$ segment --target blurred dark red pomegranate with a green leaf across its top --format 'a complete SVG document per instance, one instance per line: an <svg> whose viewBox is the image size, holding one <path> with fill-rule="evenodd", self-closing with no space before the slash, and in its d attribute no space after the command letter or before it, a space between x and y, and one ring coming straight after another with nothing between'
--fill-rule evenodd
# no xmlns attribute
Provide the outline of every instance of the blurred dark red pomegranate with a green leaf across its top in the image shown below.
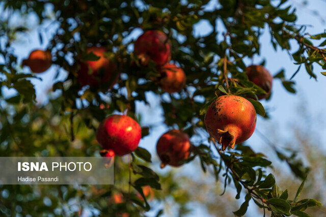
<svg viewBox="0 0 326 217"><path fill-rule="evenodd" d="M111 82L110 89L116 82L119 76L117 65L107 58L104 53L104 47L90 47L87 53L93 52L100 58L98 60L88 60L85 63L80 62L77 81L82 86L90 85L93 87L99 86L100 83Z"/></svg>

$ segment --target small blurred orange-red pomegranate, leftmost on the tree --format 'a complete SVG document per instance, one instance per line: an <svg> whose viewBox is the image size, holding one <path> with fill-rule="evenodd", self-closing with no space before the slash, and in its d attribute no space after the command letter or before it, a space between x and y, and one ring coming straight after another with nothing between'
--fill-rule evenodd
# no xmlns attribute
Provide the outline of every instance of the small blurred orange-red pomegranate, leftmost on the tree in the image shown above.
<svg viewBox="0 0 326 217"><path fill-rule="evenodd" d="M32 72L41 73L52 65L52 56L49 51L33 50L28 59L22 61L23 66L29 66Z"/></svg>

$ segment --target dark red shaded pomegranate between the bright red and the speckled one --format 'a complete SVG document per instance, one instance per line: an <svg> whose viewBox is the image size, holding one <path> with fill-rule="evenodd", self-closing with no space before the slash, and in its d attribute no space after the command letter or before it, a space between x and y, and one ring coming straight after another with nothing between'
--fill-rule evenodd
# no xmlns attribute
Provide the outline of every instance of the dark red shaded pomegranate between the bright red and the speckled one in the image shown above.
<svg viewBox="0 0 326 217"><path fill-rule="evenodd" d="M181 166L191 153L191 144L187 134L179 130L171 130L163 134L157 141L156 151L161 159L161 168L166 165Z"/></svg>

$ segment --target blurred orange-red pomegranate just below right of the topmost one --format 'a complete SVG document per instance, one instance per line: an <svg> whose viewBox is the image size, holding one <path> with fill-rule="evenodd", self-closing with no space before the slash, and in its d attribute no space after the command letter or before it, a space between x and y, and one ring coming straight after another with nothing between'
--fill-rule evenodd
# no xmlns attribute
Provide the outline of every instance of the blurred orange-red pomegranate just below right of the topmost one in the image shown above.
<svg viewBox="0 0 326 217"><path fill-rule="evenodd" d="M175 64L166 64L162 66L160 74L159 86L165 92L180 92L186 83L184 71Z"/></svg>

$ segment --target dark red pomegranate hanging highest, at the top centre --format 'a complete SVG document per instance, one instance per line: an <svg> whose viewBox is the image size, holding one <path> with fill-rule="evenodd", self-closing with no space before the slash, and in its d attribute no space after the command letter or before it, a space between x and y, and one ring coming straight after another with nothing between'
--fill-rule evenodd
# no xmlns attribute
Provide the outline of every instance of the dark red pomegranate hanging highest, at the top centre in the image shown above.
<svg viewBox="0 0 326 217"><path fill-rule="evenodd" d="M171 59L171 41L165 33L149 30L141 35L134 43L134 53L147 66L153 60L157 66L162 66Z"/></svg>

